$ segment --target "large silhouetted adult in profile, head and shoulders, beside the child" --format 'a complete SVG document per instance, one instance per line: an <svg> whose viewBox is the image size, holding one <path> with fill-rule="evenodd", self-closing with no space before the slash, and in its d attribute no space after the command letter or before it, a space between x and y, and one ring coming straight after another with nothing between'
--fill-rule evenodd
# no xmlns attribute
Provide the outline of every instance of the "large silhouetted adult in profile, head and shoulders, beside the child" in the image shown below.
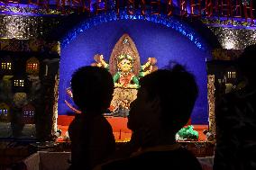
<svg viewBox="0 0 256 170"><path fill-rule="evenodd" d="M135 152L96 169L202 169L197 157L175 139L197 99L194 76L172 64L142 77L140 85L127 123L133 130L131 149Z"/></svg>

